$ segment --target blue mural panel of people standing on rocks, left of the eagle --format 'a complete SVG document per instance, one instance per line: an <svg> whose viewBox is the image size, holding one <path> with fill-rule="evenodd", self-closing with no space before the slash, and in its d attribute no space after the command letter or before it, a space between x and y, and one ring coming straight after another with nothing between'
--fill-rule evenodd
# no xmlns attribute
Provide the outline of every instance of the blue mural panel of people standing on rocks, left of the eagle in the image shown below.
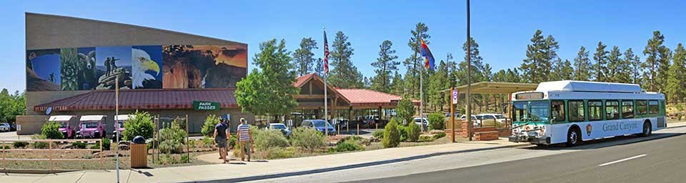
<svg viewBox="0 0 686 183"><path fill-rule="evenodd" d="M95 89L114 89L119 77L119 89L131 86L131 46L97 46L95 48L97 86ZM116 66L119 64L119 66Z"/></svg>

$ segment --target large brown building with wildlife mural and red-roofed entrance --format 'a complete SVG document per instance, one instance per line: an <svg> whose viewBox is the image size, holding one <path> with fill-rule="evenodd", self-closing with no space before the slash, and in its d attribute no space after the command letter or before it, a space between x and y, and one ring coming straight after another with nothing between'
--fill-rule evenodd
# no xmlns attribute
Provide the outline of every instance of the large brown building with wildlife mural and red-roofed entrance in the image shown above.
<svg viewBox="0 0 686 183"><path fill-rule="evenodd" d="M34 134L52 115L107 115L112 132L115 88L119 114L143 110L165 119L188 115L200 132L209 114L244 117L234 91L247 75L247 44L143 26L26 13L26 115L18 134ZM316 74L297 78L297 112L285 119L319 119L324 84ZM330 117L389 116L399 96L329 87ZM210 109L200 106L209 104ZM384 110L385 109L385 110ZM76 124L71 124L72 126Z"/></svg>

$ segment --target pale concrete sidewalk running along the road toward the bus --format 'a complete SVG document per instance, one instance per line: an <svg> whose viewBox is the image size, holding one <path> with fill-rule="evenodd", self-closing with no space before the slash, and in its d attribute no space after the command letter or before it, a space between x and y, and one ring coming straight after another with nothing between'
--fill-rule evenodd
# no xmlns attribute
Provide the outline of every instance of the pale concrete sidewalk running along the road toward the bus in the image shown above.
<svg viewBox="0 0 686 183"><path fill-rule="evenodd" d="M686 126L686 122L669 124L669 127L679 126ZM200 182L218 179L227 182L240 182L329 172L339 169L369 167L412 159L423 159L443 154L456 154L528 145L529 144L525 143L517 144L507 142L507 139L501 138L499 140L484 142L400 147L269 161L239 162L234 160L231 164L120 170L119 178L120 182ZM207 156L216 158L216 154L209 154ZM0 182L116 182L116 172L114 170L88 170L59 174L0 174Z"/></svg>

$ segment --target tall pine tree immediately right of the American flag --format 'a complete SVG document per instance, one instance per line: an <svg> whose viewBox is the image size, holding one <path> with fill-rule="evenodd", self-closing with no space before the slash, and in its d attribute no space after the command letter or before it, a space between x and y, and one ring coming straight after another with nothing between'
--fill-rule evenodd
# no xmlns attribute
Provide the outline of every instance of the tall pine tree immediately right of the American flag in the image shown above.
<svg viewBox="0 0 686 183"><path fill-rule="evenodd" d="M354 49L348 41L348 36L345 36L342 31L338 31L331 47L330 59L333 69L331 76L329 76L329 84L341 88L362 87L362 74L357 70L357 66L354 66L350 61Z"/></svg>

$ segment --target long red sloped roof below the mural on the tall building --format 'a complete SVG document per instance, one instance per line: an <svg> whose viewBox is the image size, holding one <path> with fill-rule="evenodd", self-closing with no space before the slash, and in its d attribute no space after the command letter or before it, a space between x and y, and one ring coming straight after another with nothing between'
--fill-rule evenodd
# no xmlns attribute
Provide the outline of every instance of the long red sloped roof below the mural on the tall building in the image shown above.
<svg viewBox="0 0 686 183"><path fill-rule="evenodd" d="M193 109L193 101L219 102L221 108L238 108L235 89L127 89L119 91L119 109ZM114 90L90 91L34 107L44 112L114 110Z"/></svg>

